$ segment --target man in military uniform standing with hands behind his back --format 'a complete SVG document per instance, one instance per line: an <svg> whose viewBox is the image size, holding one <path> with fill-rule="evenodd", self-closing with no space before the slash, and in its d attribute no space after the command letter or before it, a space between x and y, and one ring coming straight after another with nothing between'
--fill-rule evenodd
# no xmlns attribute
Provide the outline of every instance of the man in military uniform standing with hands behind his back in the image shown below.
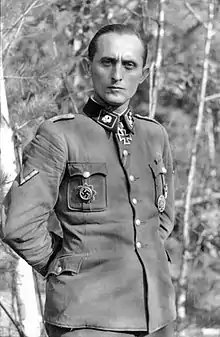
<svg viewBox="0 0 220 337"><path fill-rule="evenodd" d="M93 96L82 114L40 126L7 198L2 237L46 277L50 337L173 336L168 136L129 107L146 58L129 26L97 32L86 62ZM62 239L48 231L52 210Z"/></svg>

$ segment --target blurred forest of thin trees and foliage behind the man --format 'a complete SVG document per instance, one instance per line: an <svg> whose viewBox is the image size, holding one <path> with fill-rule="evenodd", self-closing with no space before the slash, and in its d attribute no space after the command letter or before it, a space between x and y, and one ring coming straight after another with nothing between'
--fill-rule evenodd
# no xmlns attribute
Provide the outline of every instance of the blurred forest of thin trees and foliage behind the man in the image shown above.
<svg viewBox="0 0 220 337"><path fill-rule="evenodd" d="M97 29L129 23L139 30L149 46L150 76L132 105L165 126L174 158L176 218L167 248L177 330L204 336L210 328L210 336L220 336L219 1L3 0L1 9L1 60L17 154L43 120L82 109L92 85L81 60ZM0 202L6 181L1 172ZM1 243L0 303L12 316L15 261ZM44 298L44 281L35 275L35 282ZM6 316L0 310L0 336L17 336Z"/></svg>

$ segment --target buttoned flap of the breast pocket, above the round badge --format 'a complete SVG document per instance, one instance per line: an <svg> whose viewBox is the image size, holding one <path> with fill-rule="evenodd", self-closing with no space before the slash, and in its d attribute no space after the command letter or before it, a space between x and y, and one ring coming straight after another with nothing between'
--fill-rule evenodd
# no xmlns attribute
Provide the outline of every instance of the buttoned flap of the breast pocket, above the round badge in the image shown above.
<svg viewBox="0 0 220 337"><path fill-rule="evenodd" d="M107 167L105 163L71 163L68 164L69 175L80 175L84 178L89 178L93 174L107 175Z"/></svg>

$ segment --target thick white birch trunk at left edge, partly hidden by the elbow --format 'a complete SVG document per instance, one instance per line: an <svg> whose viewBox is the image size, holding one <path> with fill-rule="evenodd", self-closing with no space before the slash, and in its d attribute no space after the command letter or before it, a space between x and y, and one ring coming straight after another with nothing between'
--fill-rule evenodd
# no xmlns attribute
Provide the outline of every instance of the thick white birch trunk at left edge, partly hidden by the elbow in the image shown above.
<svg viewBox="0 0 220 337"><path fill-rule="evenodd" d="M12 181L16 176L16 158L13 143L13 132L10 127L9 111L7 105L3 63L0 56L0 87L1 87L1 171L7 177L3 194L6 195ZM19 201L18 201L19 202ZM41 332L41 317L39 316L32 268L21 258L18 258L16 267L16 288L19 305L22 307L22 321L25 335L27 337L39 337Z"/></svg>

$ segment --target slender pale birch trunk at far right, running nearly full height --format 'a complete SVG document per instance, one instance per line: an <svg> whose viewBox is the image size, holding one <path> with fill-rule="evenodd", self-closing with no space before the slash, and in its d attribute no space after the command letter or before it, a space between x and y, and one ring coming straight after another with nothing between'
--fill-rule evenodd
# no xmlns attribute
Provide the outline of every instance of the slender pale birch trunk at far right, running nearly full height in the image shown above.
<svg viewBox="0 0 220 337"><path fill-rule="evenodd" d="M211 0L209 3L209 20L207 25L207 34L205 42L205 53L204 53L205 55L203 62L203 75L199 99L198 118L195 129L195 137L193 140L191 150L188 185L184 207L185 210L184 210L184 228L183 228L183 258L179 277L179 291L177 293L177 315L180 320L186 318L187 281L193 260L193 252L191 251L191 241L190 241L190 234L192 230L191 228L192 224L190 222L190 211L191 211L192 192L196 175L197 150L202 132L204 107L206 101L205 96L208 81L209 54L213 36L214 7L215 7L215 0ZM184 333L181 336L184 336Z"/></svg>

